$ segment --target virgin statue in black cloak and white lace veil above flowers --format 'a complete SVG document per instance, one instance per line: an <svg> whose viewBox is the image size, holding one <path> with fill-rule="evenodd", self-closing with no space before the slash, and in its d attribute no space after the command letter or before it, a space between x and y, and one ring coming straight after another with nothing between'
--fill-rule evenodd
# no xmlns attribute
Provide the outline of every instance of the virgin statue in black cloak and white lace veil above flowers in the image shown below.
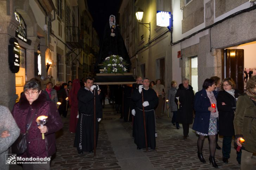
<svg viewBox="0 0 256 170"><path fill-rule="evenodd" d="M130 58L127 53L126 46L122 35L120 34L119 25L116 25L116 18L114 15L109 16L109 22L104 28L103 39L101 41L101 47L99 51L98 58L95 64L95 71L99 73L100 67L98 64L101 64L106 57L109 55L120 55L128 64L128 72L130 70Z"/></svg>

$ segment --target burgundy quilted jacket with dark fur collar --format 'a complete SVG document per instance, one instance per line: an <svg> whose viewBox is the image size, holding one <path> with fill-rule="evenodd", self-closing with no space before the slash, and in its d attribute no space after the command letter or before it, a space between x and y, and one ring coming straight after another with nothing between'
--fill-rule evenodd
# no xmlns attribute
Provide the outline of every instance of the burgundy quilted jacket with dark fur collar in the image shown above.
<svg viewBox="0 0 256 170"><path fill-rule="evenodd" d="M19 102L14 105L12 115L20 128L20 133L25 133L26 124L33 118L27 133L27 150L21 157L43 158L52 156L56 152L55 132L63 127L63 123L55 103L47 101L44 93L41 93L31 105L23 94ZM48 116L45 124L47 127L45 140L42 140L42 134L36 123L37 117L41 115Z"/></svg>

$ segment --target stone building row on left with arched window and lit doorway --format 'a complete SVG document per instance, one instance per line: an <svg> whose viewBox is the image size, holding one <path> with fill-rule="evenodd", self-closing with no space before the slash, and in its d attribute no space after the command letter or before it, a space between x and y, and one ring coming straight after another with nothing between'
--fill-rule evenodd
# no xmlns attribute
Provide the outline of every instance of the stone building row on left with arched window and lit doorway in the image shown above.
<svg viewBox="0 0 256 170"><path fill-rule="evenodd" d="M50 75L42 82L53 84L79 77L86 8L83 0L0 0L1 105L12 110L23 85L33 77ZM19 55L14 56L14 49ZM11 71L12 60L18 61L18 72Z"/></svg>

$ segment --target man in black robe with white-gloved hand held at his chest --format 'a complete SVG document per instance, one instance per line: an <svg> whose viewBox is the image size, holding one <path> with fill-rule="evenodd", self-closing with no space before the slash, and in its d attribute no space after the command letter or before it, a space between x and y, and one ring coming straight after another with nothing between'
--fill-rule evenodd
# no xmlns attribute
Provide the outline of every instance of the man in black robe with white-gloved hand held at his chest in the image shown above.
<svg viewBox="0 0 256 170"><path fill-rule="evenodd" d="M143 103L142 103L143 93ZM143 80L143 85L140 85L138 89L134 90L132 100L135 101L135 137L134 143L137 145L137 149L146 148L145 142L145 130L144 130L144 118L143 107L145 110L145 122L147 132L147 144L151 149L155 149L155 116L154 108L158 104L158 97L155 91L149 88L149 79Z"/></svg>

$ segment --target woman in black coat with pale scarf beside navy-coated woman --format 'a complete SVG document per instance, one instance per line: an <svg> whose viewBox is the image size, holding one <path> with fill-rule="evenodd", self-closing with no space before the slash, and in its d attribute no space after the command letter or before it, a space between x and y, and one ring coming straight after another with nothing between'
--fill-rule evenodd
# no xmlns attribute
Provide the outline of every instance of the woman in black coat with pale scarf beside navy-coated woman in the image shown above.
<svg viewBox="0 0 256 170"><path fill-rule="evenodd" d="M219 111L219 135L223 136L222 160L228 163L231 151L232 136L235 135L233 120L236 110L236 99L241 92L236 88L232 78L226 78L221 83L222 91L217 96L217 108ZM237 157L239 161L239 154Z"/></svg>

